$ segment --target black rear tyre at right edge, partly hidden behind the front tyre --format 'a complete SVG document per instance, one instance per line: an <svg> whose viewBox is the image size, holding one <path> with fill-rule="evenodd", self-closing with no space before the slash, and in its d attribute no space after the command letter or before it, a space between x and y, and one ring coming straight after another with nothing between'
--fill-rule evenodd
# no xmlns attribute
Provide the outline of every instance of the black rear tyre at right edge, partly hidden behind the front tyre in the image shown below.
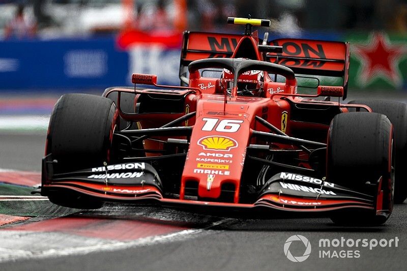
<svg viewBox="0 0 407 271"><path fill-rule="evenodd" d="M364 104L373 112L386 115L394 126L395 168L394 202L403 203L407 198L407 105L392 101L355 100L350 104Z"/></svg>

